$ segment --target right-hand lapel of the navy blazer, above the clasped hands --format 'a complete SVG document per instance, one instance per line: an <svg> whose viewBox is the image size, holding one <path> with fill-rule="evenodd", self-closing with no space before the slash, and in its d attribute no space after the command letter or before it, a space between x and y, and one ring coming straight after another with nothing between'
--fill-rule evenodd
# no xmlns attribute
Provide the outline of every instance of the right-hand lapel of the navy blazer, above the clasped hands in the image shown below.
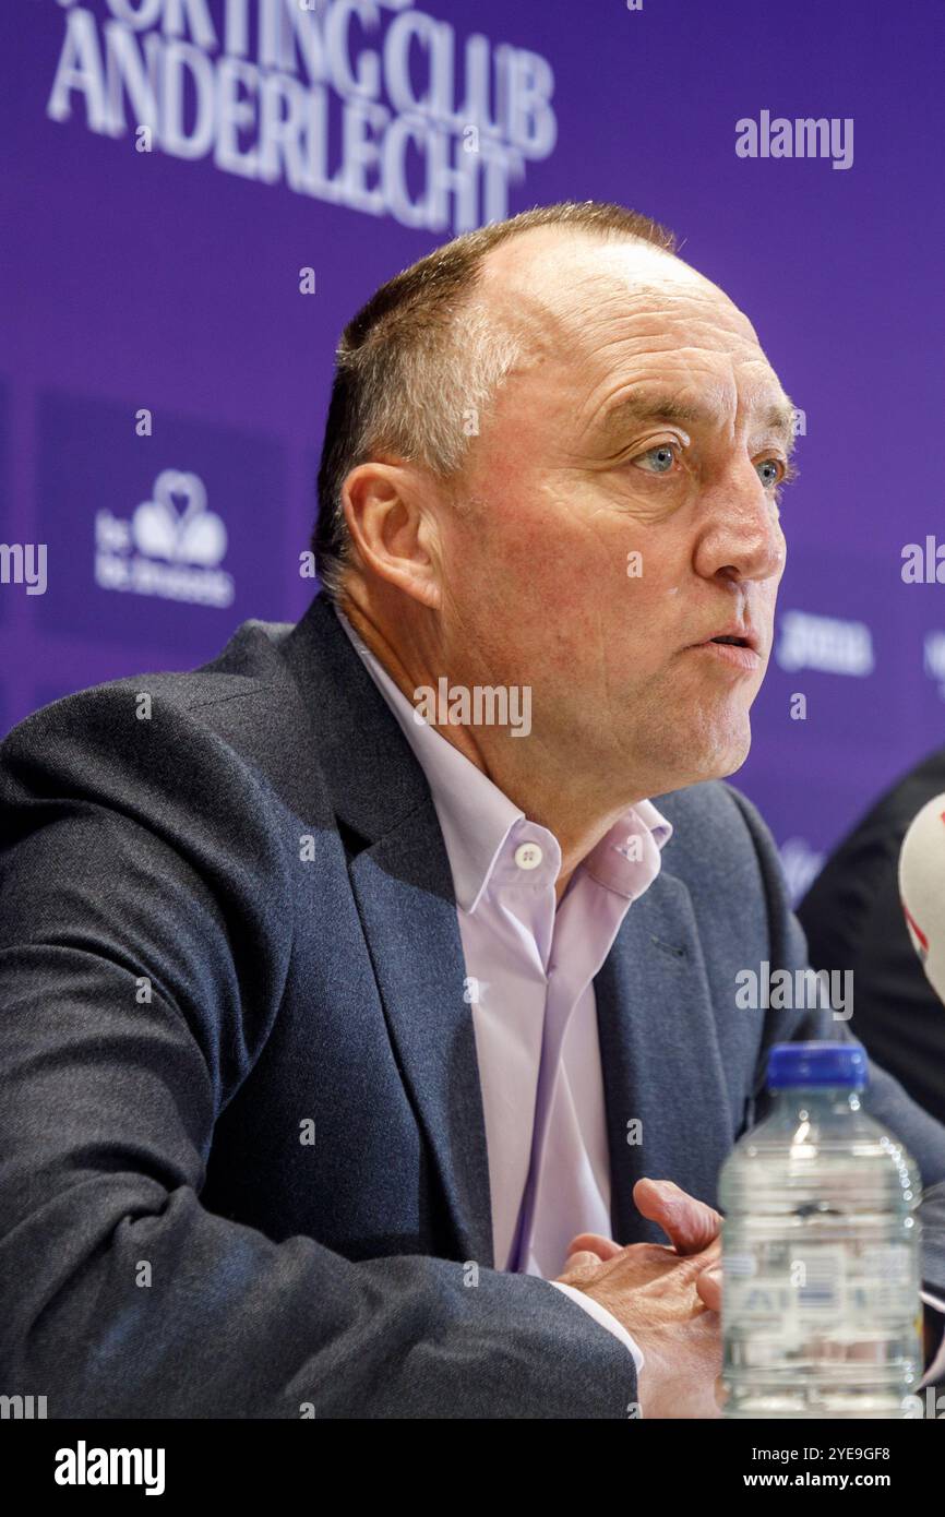
<svg viewBox="0 0 945 1517"><path fill-rule="evenodd" d="M686 886L661 872L595 978L617 1242L666 1242L640 1217L643 1176L714 1204L733 1127L708 978Z"/></svg>

